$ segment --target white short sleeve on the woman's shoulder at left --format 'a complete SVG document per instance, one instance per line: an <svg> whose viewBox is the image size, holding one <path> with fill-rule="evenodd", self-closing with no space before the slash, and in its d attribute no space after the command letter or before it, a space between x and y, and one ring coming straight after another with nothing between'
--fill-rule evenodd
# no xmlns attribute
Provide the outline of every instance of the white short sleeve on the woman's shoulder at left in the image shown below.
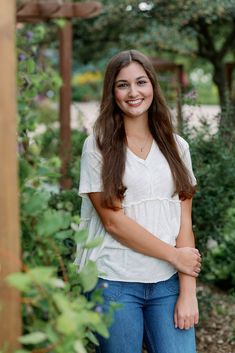
<svg viewBox="0 0 235 353"><path fill-rule="evenodd" d="M80 196L87 197L90 192L103 191L101 168L102 156L96 147L94 137L89 136L84 143L81 157Z"/></svg>

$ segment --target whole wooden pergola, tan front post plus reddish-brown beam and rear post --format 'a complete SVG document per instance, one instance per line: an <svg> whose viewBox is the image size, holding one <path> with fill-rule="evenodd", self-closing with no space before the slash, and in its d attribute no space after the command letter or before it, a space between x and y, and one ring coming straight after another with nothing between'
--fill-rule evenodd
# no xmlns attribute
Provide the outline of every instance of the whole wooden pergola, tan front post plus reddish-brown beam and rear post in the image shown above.
<svg viewBox="0 0 235 353"><path fill-rule="evenodd" d="M61 186L70 186L66 175L71 150L70 131L70 73L72 61L72 18L91 18L101 11L98 2L63 3L52 0L23 1L16 9L14 0L0 0L0 349L8 352L18 347L21 335L20 294L9 287L5 278L21 270L19 191L17 168L16 123L16 50L15 28L18 22L67 19L60 29L60 73L63 86L60 92L60 157L62 160Z"/></svg>

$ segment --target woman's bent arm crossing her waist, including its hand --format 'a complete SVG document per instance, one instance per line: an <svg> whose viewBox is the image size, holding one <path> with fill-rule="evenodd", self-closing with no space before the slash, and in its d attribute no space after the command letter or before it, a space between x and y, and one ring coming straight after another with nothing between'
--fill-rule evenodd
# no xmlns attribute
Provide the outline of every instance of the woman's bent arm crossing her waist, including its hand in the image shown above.
<svg viewBox="0 0 235 353"><path fill-rule="evenodd" d="M89 194L106 231L120 243L144 255L170 262L179 271L197 277L200 272L200 254L193 246L175 248L156 238L144 227L126 216L117 201L118 211L106 208L102 203L102 193Z"/></svg>

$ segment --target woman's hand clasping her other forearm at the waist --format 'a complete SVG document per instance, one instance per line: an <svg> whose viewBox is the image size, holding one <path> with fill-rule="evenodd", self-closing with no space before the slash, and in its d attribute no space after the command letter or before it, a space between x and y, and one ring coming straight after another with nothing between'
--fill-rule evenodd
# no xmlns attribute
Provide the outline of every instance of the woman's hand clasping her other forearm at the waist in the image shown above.
<svg viewBox="0 0 235 353"><path fill-rule="evenodd" d="M172 264L179 272L198 277L201 270L201 255L195 248L176 248L175 258Z"/></svg>

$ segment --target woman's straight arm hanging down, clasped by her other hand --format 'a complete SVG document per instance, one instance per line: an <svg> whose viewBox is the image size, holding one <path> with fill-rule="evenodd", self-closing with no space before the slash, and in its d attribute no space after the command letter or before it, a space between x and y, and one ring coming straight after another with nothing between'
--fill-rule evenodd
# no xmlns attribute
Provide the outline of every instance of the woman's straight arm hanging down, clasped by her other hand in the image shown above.
<svg viewBox="0 0 235 353"><path fill-rule="evenodd" d="M176 246L194 247L192 231L192 199L181 202L181 226L177 237ZM199 312L196 297L196 278L179 273L180 295L175 306L175 327L188 329L198 323Z"/></svg>

